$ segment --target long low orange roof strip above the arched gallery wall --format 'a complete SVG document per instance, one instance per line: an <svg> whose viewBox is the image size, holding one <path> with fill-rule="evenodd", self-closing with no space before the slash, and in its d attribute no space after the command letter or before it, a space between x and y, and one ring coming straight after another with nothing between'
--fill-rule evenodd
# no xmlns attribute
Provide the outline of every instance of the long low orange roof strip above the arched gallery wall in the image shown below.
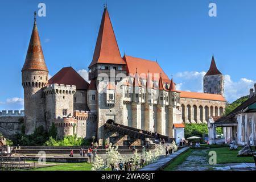
<svg viewBox="0 0 256 182"><path fill-rule="evenodd" d="M186 92L186 91L179 91L179 92L180 92L181 98L196 98L201 100L226 101L225 98L219 94Z"/></svg>

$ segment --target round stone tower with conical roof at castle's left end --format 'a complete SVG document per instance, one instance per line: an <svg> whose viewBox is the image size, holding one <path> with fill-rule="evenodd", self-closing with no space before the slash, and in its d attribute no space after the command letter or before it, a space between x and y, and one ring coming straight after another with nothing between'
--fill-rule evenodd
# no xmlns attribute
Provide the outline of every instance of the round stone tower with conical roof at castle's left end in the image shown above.
<svg viewBox="0 0 256 182"><path fill-rule="evenodd" d="M35 13L34 28L32 30L26 60L22 68L26 134L34 133L36 127L41 125L46 126L46 119L44 117L45 105L42 92L42 88L46 85L48 85L48 69L44 61Z"/></svg>

